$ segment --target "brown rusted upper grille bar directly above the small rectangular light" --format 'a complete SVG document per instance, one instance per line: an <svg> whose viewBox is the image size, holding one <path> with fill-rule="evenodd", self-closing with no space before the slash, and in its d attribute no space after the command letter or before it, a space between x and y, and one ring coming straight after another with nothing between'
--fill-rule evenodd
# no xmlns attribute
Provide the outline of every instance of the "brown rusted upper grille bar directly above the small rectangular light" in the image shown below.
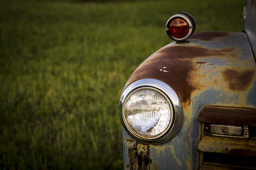
<svg viewBox="0 0 256 170"><path fill-rule="evenodd" d="M199 112L198 120L215 124L256 126L256 109L205 106Z"/></svg>

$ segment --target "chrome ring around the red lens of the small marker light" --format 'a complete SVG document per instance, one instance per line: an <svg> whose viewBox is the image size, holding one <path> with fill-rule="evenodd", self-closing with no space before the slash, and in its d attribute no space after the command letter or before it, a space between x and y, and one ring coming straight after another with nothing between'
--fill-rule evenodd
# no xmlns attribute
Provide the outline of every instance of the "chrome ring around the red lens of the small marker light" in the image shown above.
<svg viewBox="0 0 256 170"><path fill-rule="evenodd" d="M182 18L184 20L186 20L186 22L188 22L188 27L189 27L189 31L188 34L184 37L184 38L175 38L172 36L171 32L169 31L169 27L171 22L176 19L176 18ZM189 38L189 36L191 36L193 34L193 32L195 31L195 20L193 19L193 17L186 12L180 12L180 13L176 13L175 15L172 15L172 17L170 17L166 24L165 24L165 31L168 34L168 36L173 39L174 41L185 41L186 39Z"/></svg>

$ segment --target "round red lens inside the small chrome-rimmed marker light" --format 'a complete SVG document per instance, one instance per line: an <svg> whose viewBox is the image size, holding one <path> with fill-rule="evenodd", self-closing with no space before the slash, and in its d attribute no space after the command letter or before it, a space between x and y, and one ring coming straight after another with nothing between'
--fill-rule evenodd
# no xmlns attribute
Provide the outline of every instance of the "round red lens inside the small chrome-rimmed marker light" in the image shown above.
<svg viewBox="0 0 256 170"><path fill-rule="evenodd" d="M188 34L188 23L182 18L176 18L170 24L170 33L174 38L184 38Z"/></svg>

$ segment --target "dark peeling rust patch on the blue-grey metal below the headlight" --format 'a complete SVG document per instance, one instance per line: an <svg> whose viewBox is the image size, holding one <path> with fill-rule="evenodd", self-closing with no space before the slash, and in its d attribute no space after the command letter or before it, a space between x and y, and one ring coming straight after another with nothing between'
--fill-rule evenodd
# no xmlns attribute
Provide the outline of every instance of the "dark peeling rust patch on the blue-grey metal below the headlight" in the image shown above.
<svg viewBox="0 0 256 170"><path fill-rule="evenodd" d="M138 149L138 143L128 148L129 155L129 165L127 165L130 170L146 170L150 169L150 164L152 160L150 159L149 146L143 146L143 150Z"/></svg>

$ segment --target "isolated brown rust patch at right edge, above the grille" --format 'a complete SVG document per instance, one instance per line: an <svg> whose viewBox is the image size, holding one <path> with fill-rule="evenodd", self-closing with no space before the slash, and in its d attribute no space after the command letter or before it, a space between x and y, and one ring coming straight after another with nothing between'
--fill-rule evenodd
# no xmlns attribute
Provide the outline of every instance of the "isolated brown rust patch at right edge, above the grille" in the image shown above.
<svg viewBox="0 0 256 170"><path fill-rule="evenodd" d="M254 70L237 71L236 69L226 69L222 72L222 75L228 83L228 89L244 91L252 83L254 73Z"/></svg>

